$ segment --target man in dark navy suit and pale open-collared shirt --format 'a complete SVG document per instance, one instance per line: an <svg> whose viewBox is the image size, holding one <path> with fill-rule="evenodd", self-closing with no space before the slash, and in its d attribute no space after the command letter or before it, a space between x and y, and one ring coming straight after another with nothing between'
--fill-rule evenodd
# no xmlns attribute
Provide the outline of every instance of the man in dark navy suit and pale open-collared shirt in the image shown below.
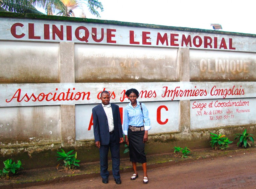
<svg viewBox="0 0 256 189"><path fill-rule="evenodd" d="M112 158L112 173L116 184L121 184L120 143L124 142L119 106L110 104L108 91L100 94L101 104L92 108L93 133L95 145L100 149L100 176L102 182L108 183L108 150Z"/></svg>

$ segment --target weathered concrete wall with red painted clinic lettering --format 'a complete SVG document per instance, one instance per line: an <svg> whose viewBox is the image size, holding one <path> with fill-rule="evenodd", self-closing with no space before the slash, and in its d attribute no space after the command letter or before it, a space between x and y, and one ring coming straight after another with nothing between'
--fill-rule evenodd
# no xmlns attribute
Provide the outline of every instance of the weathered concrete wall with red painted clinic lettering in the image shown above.
<svg viewBox="0 0 256 189"><path fill-rule="evenodd" d="M147 154L210 147L210 132L231 141L245 128L256 133L255 35L0 17L0 161L20 159L25 169L54 166L60 148L75 148L82 162L97 161L92 107L104 89L121 116L129 102L125 90L141 91L152 125Z"/></svg>

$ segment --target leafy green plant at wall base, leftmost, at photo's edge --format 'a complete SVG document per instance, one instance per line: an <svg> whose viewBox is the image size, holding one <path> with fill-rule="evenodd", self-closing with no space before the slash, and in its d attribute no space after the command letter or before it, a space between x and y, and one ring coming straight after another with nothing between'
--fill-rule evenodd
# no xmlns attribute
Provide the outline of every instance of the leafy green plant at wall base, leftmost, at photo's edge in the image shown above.
<svg viewBox="0 0 256 189"><path fill-rule="evenodd" d="M3 178L7 178L9 179L9 174L10 172L13 173L13 174L16 174L17 173L17 170L19 169L23 169L23 167L21 166L21 161L17 161L17 163L13 162L12 163L12 160L10 159L7 159L4 161L4 168L3 170L0 170L0 175L1 177Z"/></svg>

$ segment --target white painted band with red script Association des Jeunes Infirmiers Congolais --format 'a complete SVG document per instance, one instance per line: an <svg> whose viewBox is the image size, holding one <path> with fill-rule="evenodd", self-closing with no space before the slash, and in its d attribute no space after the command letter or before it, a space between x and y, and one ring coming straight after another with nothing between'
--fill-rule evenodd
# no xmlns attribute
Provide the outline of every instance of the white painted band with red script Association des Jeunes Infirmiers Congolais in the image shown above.
<svg viewBox="0 0 256 189"><path fill-rule="evenodd" d="M114 103L128 102L130 88L143 91L142 101L256 97L256 82L0 84L0 107L95 104L103 90Z"/></svg>

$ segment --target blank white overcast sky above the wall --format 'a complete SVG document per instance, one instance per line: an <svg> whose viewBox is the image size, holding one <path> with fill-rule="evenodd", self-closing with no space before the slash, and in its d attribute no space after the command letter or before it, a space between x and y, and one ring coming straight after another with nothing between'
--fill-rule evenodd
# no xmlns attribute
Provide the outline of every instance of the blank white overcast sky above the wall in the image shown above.
<svg viewBox="0 0 256 189"><path fill-rule="evenodd" d="M256 34L255 0L99 0L101 20L117 20L164 26ZM97 19L84 6L87 18ZM81 9L76 9L80 17Z"/></svg>

